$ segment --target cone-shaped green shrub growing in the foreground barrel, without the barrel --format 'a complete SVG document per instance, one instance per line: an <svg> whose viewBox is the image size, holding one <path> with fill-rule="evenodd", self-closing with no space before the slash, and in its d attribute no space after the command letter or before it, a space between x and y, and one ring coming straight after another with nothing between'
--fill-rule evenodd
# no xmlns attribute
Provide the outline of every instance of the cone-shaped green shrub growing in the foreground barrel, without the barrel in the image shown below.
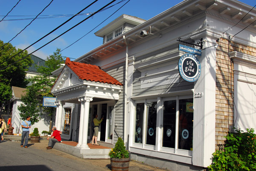
<svg viewBox="0 0 256 171"><path fill-rule="evenodd" d="M108 155L117 159L129 158L129 152L125 149L125 144L121 137L118 138L115 147L109 151Z"/></svg>

